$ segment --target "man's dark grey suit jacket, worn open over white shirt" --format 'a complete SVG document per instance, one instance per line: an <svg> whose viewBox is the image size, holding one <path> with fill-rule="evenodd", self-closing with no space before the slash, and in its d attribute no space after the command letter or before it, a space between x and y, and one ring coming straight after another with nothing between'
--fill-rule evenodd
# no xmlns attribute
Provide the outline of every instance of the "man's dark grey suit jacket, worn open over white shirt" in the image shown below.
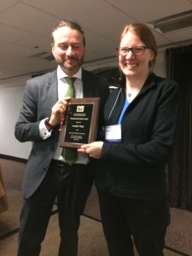
<svg viewBox="0 0 192 256"><path fill-rule="evenodd" d="M103 106L109 94L108 81L84 69L82 80L84 97L101 97L101 115L98 125L101 129ZM56 70L26 82L23 106L15 125L15 137L21 143L33 142L22 186L26 198L30 197L43 181L58 143L59 127L56 126L51 136L45 140L39 136L38 128L40 121L50 116L51 108L58 101L57 84Z"/></svg>

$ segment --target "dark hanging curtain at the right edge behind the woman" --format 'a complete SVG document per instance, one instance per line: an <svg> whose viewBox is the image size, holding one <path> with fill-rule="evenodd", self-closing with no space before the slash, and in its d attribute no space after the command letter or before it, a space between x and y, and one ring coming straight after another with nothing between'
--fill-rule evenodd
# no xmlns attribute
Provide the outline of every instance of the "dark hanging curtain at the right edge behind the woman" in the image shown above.
<svg viewBox="0 0 192 256"><path fill-rule="evenodd" d="M168 165L170 204L192 211L192 45L166 49L166 75L179 84L177 132Z"/></svg>

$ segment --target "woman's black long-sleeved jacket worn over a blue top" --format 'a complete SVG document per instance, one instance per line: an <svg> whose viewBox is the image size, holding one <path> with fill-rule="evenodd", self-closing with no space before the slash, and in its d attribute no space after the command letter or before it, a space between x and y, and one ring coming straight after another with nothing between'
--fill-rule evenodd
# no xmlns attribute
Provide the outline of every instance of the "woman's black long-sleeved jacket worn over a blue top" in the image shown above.
<svg viewBox="0 0 192 256"><path fill-rule="evenodd" d="M118 123L124 103L125 84L108 97L106 125ZM166 197L166 163L172 153L176 122L177 84L151 73L125 111L121 143L103 144L97 188L135 199Z"/></svg>

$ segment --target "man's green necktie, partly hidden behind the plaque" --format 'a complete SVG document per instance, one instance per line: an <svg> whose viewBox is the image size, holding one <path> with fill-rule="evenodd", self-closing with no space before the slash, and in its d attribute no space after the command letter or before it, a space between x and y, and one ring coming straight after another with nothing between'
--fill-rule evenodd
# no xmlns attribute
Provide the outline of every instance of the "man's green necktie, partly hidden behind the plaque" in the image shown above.
<svg viewBox="0 0 192 256"><path fill-rule="evenodd" d="M71 98L75 98L75 90L74 90L74 80L76 78L65 78L67 80L68 89L66 96L70 96ZM62 148L62 157L67 161L69 166L72 166L74 162L78 159L78 152L75 148Z"/></svg>

